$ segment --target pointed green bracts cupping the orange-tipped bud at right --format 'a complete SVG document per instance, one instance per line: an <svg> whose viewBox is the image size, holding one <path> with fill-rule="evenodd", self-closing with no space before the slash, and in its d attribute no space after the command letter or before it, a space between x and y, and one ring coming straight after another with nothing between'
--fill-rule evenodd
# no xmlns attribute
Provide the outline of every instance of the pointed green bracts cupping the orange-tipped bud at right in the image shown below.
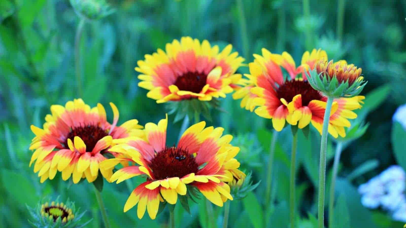
<svg viewBox="0 0 406 228"><path fill-rule="evenodd" d="M326 73L317 73L316 69L309 71L307 80L311 87L322 92L327 97L355 97L361 93L364 86L367 84L363 77L358 77L351 85L346 82L337 80L336 75L330 77Z"/></svg>

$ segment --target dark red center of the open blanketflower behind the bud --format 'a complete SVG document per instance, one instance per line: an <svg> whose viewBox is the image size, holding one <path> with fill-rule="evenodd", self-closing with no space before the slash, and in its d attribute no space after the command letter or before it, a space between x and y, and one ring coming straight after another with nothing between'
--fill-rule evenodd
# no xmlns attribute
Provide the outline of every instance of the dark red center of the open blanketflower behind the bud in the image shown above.
<svg viewBox="0 0 406 228"><path fill-rule="evenodd" d="M307 80L287 80L276 90L278 98L284 98L287 103L291 102L293 97L298 94L302 95L303 106L309 105L312 100L321 100L323 98L317 90L311 87Z"/></svg>

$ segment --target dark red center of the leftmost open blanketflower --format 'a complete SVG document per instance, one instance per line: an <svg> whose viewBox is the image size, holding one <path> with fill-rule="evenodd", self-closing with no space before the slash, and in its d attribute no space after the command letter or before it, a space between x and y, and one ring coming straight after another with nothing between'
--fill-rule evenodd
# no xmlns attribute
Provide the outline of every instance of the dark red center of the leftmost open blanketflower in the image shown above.
<svg viewBox="0 0 406 228"><path fill-rule="evenodd" d="M96 143L104 136L108 136L108 133L99 126L95 125L72 128L64 142L65 148L69 149L68 138L73 142L73 138L75 138L75 136L79 136L83 140L84 144L86 145L86 151L92 151L93 148L95 148Z"/></svg>

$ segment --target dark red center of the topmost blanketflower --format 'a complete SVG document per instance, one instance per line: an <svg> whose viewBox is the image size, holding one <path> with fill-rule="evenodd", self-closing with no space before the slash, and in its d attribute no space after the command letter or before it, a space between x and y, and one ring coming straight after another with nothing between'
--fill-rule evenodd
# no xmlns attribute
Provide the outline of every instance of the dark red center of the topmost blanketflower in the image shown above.
<svg viewBox="0 0 406 228"><path fill-rule="evenodd" d="M188 72L177 77L174 84L179 90L199 93L206 85L206 79L207 75L205 73Z"/></svg>

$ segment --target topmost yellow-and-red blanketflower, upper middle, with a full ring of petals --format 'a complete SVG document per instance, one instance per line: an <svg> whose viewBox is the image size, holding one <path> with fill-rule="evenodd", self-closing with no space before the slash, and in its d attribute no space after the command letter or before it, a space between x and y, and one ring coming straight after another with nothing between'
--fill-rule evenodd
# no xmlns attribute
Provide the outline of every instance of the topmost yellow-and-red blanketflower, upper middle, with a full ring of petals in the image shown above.
<svg viewBox="0 0 406 228"><path fill-rule="evenodd" d="M166 44L166 52L158 49L145 60L137 62L136 71L142 73L138 86L150 90L147 97L157 103L197 98L210 101L233 92L231 85L241 75L235 74L244 58L231 53L231 44L221 52L207 40L182 37Z"/></svg>

